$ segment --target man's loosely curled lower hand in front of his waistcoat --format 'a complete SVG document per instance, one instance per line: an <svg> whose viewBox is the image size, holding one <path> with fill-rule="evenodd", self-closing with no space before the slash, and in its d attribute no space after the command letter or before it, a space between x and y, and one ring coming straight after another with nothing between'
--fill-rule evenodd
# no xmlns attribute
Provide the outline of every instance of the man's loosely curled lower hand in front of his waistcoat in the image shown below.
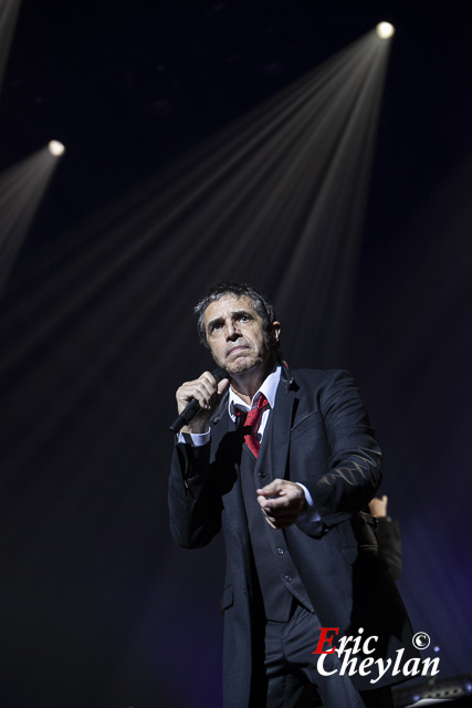
<svg viewBox="0 0 472 708"><path fill-rule="evenodd" d="M256 492L265 520L273 529L291 527L306 506L303 488L286 479L274 479Z"/></svg>

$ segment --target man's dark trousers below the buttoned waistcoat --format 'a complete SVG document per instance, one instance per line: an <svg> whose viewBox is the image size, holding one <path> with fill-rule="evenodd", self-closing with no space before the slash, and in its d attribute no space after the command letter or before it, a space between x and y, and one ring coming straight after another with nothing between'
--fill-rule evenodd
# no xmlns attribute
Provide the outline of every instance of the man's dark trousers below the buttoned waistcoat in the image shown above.
<svg viewBox="0 0 472 708"><path fill-rule="evenodd" d="M295 603L289 622L266 623L265 705L260 694L258 708L392 708L389 687L358 691L347 675L318 673L312 652L319 639L319 625L317 615ZM326 657L325 667L331 671L340 664L336 653Z"/></svg>

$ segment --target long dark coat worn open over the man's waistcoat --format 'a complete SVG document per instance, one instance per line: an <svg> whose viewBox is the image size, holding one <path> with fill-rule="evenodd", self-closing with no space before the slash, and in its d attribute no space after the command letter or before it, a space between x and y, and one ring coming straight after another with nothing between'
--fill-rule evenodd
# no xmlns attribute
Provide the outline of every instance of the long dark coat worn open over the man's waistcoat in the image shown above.
<svg viewBox="0 0 472 708"><path fill-rule="evenodd" d="M198 548L223 528L224 706L244 708L261 668L260 603L239 479L241 442L227 410L223 400L210 444L176 446L169 480L170 529L179 545ZM353 378L342 371L298 369L292 375L284 368L271 416L272 435L265 447L264 436L260 452L269 479L305 485L322 517L311 534L297 525L285 530L321 625L339 627L338 637L357 636L359 627L364 637L378 636L374 658L395 659L403 646L405 658L416 656L405 607L377 558L373 518L361 511L380 483L380 450ZM405 680L387 674L371 685L370 678L377 676L357 675L353 680L359 689Z"/></svg>

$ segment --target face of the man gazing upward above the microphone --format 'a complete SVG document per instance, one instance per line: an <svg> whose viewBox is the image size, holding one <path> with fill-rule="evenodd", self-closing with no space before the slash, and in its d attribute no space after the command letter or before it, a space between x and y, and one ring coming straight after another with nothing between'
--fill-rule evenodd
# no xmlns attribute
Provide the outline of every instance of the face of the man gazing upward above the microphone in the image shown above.
<svg viewBox="0 0 472 708"><path fill-rule="evenodd" d="M216 363L229 374L243 374L273 356L262 317L245 295L223 295L211 302L204 311L204 331ZM279 322L273 323L273 334L279 341Z"/></svg>

